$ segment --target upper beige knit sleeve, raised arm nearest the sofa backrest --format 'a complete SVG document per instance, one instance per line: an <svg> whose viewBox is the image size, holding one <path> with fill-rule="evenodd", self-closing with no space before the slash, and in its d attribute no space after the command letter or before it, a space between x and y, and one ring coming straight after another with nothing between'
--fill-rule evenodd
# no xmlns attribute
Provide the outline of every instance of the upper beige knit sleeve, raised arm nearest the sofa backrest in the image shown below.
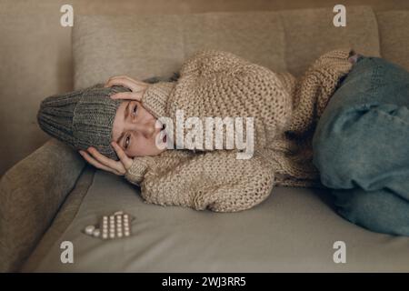
<svg viewBox="0 0 409 291"><path fill-rule="evenodd" d="M279 75L238 55L214 49L199 50L189 57L182 65L177 82L150 85L143 96L143 105L153 115L171 117L174 121L173 137L176 145L181 144L180 140L185 142L189 132L192 134L194 130L198 130L195 137L190 135L188 141L192 141L191 143L184 143L177 148L202 151L240 149L233 136L235 122L243 126L241 142L244 145L253 141L254 150L263 148L274 136L284 131L292 113L290 93ZM186 121L192 117L191 120L199 121L202 126L185 126L177 132L177 110L183 114L179 120ZM220 118L213 118L212 124L206 123L206 117ZM232 118L228 120L225 117ZM248 122L251 124L247 123L245 117L250 117ZM218 122L220 123L217 125ZM250 140L247 139L247 130L251 134L252 125L254 138ZM178 133L184 139L178 140L177 138L181 138L177 136ZM207 144L206 134L210 140ZM227 145L227 136L231 137L230 145Z"/></svg>

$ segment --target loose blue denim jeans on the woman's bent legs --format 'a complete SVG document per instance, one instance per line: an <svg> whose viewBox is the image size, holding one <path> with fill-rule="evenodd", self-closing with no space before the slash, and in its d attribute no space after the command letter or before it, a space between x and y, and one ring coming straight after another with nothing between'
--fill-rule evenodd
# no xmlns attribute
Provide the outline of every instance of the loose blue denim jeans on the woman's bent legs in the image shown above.
<svg viewBox="0 0 409 291"><path fill-rule="evenodd" d="M374 232L409 236L409 72L359 56L313 137L314 166L337 213Z"/></svg>

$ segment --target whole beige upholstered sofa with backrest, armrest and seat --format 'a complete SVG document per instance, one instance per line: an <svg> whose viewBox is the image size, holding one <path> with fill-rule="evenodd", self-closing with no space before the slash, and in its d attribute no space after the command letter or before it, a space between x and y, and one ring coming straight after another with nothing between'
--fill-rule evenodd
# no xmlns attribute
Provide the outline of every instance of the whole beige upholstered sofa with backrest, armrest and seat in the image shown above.
<svg viewBox="0 0 409 291"><path fill-rule="evenodd" d="M296 77L316 57L345 46L409 70L409 11L347 6L187 15L75 15L74 87L112 75L172 75L208 47ZM55 92L57 93L57 92ZM135 216L132 236L84 234L101 216ZM74 263L61 260L63 242ZM335 256L344 246L346 261ZM0 271L20 272L407 272L409 237L374 233L336 214L328 189L274 187L236 213L145 204L138 186L87 165L50 138L0 181Z"/></svg>

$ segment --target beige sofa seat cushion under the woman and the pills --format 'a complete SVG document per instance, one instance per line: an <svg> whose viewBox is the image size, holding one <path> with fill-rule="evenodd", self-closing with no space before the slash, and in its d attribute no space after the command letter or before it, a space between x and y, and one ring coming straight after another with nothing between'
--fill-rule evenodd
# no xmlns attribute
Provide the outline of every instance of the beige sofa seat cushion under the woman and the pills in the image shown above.
<svg viewBox="0 0 409 291"><path fill-rule="evenodd" d="M30 260L30 272L409 272L409 237L376 234L338 216L323 189L275 187L262 204L236 213L143 202L139 187L97 170L73 222ZM133 235L104 241L83 233L124 210ZM74 264L61 264L63 241ZM334 263L334 243L346 264Z"/></svg>

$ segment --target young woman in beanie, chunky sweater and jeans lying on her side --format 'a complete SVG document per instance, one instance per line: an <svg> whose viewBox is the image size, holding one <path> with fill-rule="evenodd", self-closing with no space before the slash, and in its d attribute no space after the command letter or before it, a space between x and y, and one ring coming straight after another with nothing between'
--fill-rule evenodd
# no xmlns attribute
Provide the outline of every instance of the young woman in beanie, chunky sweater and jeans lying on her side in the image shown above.
<svg viewBox="0 0 409 291"><path fill-rule="evenodd" d="M231 212L263 202L274 186L324 186L332 189L346 219L374 231L409 236L409 186L404 185L409 176L409 73L403 68L339 49L321 55L297 80L238 55L205 49L187 59L179 74L177 80L154 84L115 76L104 87L59 96L65 102L77 97L76 105L64 105L73 112L70 130L64 133L74 139L62 138L61 126L47 129L55 115L45 118L39 113L39 123L81 149L90 164L141 186L147 203ZM394 84L394 76L401 83ZM399 102L385 97L390 95L385 88L392 85ZM370 93L374 96L364 99ZM58 96L52 97L40 112L57 104ZM382 102L386 105L379 105ZM158 141L169 146L168 137L178 133L158 119L168 117L175 124L177 111L203 124L209 116L254 117L251 158L237 158L243 148L227 148L226 140L222 149L205 146L205 131L194 146L177 147L186 128L181 140L171 140L176 149L158 146ZM378 114L377 119L365 124L361 115L367 112ZM210 128L213 136L216 129ZM371 130L376 135L366 134ZM395 130L399 146L389 139ZM224 127L226 139L227 134ZM247 134L247 139L252 137ZM211 142L214 145L213 137ZM377 149L377 156L371 148ZM381 157L392 161L387 172L379 164Z"/></svg>

